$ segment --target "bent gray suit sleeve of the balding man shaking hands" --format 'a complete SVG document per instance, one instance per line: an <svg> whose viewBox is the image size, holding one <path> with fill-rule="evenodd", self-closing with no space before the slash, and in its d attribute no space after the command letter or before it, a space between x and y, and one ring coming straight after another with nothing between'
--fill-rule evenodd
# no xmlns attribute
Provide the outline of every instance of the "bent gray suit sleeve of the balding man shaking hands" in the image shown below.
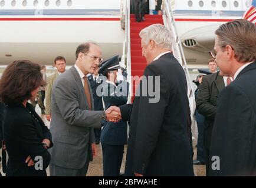
<svg viewBox="0 0 256 188"><path fill-rule="evenodd" d="M71 126L100 129L104 111L80 109L76 89L74 84L67 79L59 79L54 84L52 97L54 97L63 119Z"/></svg>

